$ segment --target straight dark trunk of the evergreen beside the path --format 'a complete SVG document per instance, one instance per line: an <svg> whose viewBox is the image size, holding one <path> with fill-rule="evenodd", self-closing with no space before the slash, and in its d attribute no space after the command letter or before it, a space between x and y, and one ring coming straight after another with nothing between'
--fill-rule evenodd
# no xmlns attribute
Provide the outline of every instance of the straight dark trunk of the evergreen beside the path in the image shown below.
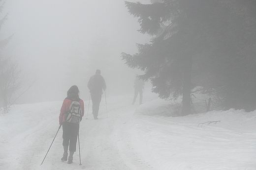
<svg viewBox="0 0 256 170"><path fill-rule="evenodd" d="M191 103L190 103L191 71L192 71L192 56L189 56L183 68L183 88L182 88L183 104L182 104L181 116L187 116L191 113Z"/></svg>

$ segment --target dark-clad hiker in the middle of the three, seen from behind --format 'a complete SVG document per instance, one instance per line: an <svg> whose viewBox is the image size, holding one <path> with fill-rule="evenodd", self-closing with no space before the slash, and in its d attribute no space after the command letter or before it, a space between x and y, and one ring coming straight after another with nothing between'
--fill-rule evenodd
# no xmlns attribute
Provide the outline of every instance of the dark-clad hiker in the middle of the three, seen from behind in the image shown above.
<svg viewBox="0 0 256 170"><path fill-rule="evenodd" d="M98 119L99 103L101 101L102 89L106 90L105 79L100 75L100 70L96 70L95 75L90 77L87 87L90 90L93 102L93 115L94 119Z"/></svg>

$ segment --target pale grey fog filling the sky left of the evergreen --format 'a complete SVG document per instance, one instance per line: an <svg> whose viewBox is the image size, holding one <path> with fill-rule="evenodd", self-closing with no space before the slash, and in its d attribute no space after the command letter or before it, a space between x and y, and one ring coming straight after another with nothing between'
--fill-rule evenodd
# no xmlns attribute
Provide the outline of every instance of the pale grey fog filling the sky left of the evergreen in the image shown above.
<svg viewBox="0 0 256 170"><path fill-rule="evenodd" d="M74 84L88 100L87 82L96 69L107 95L132 93L135 74L142 72L128 68L121 52L137 52L135 43L149 37L137 31L123 0L7 0L4 12L9 15L1 31L14 33L6 50L25 81L16 95L35 80L18 103L63 100Z"/></svg>

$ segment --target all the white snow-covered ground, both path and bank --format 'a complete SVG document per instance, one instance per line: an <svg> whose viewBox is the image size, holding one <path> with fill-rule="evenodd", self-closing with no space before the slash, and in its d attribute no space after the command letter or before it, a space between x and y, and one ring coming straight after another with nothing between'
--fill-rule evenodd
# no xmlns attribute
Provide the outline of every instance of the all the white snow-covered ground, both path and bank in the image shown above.
<svg viewBox="0 0 256 170"><path fill-rule="evenodd" d="M55 101L0 114L0 170L256 170L256 111L166 117L170 102L145 92L142 105L131 105L132 94L107 96L107 109L102 96L94 120L84 101L81 166L78 146L73 164L61 161L62 128L40 165L59 127Z"/></svg>

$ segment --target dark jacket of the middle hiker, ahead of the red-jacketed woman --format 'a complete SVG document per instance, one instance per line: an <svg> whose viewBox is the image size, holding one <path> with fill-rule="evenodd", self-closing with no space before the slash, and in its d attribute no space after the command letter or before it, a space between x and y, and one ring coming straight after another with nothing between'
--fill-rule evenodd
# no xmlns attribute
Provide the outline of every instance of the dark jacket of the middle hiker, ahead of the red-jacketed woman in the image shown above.
<svg viewBox="0 0 256 170"><path fill-rule="evenodd" d="M100 74L95 74L90 77L87 87L91 94L103 94L102 89L106 90L105 79Z"/></svg>

